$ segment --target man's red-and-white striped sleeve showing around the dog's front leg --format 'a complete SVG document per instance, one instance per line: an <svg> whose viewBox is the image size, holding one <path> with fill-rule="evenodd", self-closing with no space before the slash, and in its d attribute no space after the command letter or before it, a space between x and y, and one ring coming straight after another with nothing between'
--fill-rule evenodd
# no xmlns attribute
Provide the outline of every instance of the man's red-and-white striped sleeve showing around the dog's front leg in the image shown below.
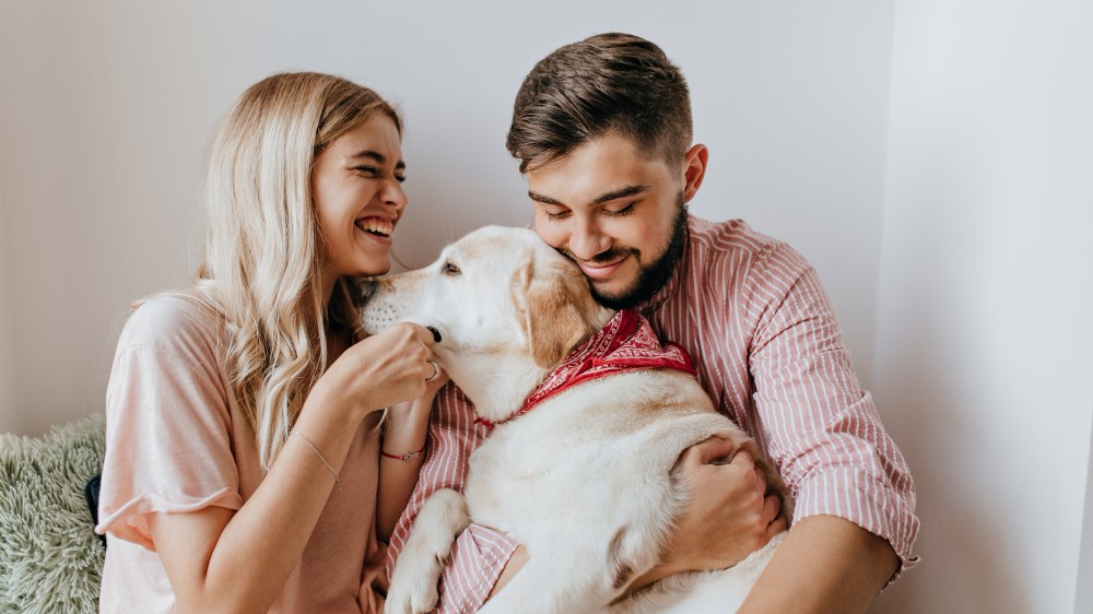
<svg viewBox="0 0 1093 614"><path fill-rule="evenodd" d="M388 575L425 499L438 488L462 491L471 452L487 434L484 425L474 422L474 408L458 388L449 383L440 389L433 405L428 446L418 485L391 534ZM456 540L444 570L439 612L474 612L481 607L518 545L490 528L468 527Z"/></svg>

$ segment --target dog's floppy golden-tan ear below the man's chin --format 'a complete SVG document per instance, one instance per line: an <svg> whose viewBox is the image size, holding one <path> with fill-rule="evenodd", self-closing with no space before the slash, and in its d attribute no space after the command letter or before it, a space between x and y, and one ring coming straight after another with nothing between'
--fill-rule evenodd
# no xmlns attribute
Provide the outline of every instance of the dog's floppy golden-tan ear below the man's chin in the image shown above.
<svg viewBox="0 0 1093 614"><path fill-rule="evenodd" d="M536 271L534 259L518 272L524 288L524 326L531 357L553 368L577 344L595 332L590 321L595 300L580 271L551 263Z"/></svg>

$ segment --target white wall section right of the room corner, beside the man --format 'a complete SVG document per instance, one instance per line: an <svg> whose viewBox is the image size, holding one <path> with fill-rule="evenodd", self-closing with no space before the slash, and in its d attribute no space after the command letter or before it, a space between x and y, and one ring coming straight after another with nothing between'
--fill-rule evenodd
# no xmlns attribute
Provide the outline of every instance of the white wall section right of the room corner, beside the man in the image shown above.
<svg viewBox="0 0 1093 614"><path fill-rule="evenodd" d="M1074 606L1093 409L1090 32L1089 2L896 2L874 373L918 485L924 562L879 610Z"/></svg>

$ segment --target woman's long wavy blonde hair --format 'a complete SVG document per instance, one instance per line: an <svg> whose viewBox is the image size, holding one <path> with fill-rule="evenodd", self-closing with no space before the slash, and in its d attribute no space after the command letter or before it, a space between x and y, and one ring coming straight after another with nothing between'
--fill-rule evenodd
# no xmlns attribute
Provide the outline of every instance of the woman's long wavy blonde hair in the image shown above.
<svg viewBox="0 0 1093 614"><path fill-rule="evenodd" d="M312 168L377 113L401 134L398 113L372 90L328 74L274 74L239 97L210 150L204 258L192 290L226 322L232 388L266 470L325 370L327 327L362 335L345 280L324 310Z"/></svg>

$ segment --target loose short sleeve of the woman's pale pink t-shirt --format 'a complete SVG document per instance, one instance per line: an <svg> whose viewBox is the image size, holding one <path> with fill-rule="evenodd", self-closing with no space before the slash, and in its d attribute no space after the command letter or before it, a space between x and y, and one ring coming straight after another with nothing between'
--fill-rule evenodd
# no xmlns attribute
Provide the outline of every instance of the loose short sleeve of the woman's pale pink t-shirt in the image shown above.
<svg viewBox="0 0 1093 614"><path fill-rule="evenodd" d="M242 507L216 350L215 320L185 299L130 317L106 394L98 533L154 551L145 515Z"/></svg>

